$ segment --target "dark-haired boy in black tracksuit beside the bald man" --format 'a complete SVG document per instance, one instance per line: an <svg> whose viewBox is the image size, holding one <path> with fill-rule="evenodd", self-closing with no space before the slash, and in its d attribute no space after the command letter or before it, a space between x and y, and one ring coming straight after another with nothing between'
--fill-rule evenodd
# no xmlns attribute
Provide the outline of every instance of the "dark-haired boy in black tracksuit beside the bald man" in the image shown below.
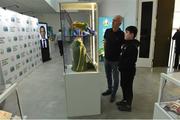
<svg viewBox="0 0 180 120"><path fill-rule="evenodd" d="M123 100L116 103L120 111L131 111L133 99L133 79L136 73L136 61L139 42L135 39L137 28L129 26L125 31L125 40L121 46L119 71L121 72L121 88Z"/></svg>

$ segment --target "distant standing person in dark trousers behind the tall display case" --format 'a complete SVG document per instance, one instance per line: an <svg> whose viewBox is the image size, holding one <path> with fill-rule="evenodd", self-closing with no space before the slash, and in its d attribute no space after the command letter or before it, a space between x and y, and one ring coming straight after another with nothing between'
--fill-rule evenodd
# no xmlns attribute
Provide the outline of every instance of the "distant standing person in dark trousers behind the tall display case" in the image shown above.
<svg viewBox="0 0 180 120"><path fill-rule="evenodd" d="M59 29L59 32L56 34L56 41L58 42L60 55L63 55L63 41L62 41L62 30Z"/></svg>

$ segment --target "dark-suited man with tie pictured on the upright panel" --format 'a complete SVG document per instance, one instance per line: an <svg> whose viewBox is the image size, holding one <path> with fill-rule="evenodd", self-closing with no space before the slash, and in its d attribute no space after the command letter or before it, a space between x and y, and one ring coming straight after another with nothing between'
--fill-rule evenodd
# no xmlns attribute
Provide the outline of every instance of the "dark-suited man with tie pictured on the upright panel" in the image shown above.
<svg viewBox="0 0 180 120"><path fill-rule="evenodd" d="M41 35L41 53L42 53L42 61L48 61L50 60L50 53L49 53L49 42L48 39L45 37L46 31L44 26L40 27L40 35Z"/></svg>

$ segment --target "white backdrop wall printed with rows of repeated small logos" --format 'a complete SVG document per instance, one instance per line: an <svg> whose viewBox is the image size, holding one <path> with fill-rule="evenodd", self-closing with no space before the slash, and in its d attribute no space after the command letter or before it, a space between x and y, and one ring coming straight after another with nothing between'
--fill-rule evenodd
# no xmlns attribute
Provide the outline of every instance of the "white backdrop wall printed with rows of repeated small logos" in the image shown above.
<svg viewBox="0 0 180 120"><path fill-rule="evenodd" d="M0 69L14 83L41 64L38 19L0 8Z"/></svg>

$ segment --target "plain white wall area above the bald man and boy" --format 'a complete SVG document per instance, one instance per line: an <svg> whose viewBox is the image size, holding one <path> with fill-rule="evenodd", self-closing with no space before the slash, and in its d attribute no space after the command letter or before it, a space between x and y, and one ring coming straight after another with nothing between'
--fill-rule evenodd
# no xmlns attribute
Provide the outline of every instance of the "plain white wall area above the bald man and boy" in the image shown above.
<svg viewBox="0 0 180 120"><path fill-rule="evenodd" d="M137 0L99 0L99 17L121 15L125 27L137 25Z"/></svg>

